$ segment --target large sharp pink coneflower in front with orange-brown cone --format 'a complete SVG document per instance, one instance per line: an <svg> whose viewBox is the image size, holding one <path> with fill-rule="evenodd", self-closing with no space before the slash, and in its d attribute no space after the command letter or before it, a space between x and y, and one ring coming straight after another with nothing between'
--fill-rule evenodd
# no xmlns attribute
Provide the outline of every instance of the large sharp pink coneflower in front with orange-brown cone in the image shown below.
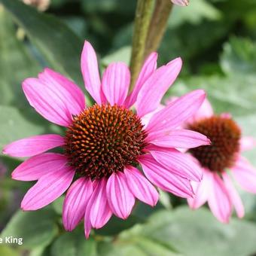
<svg viewBox="0 0 256 256"><path fill-rule="evenodd" d="M64 227L73 230L84 218L88 237L92 227L103 227L113 213L127 218L136 198L156 205L154 185L179 197L191 197L190 181L200 181L202 173L175 148L209 144L200 133L178 130L200 108L204 91L187 93L153 114L148 126L143 126L143 118L155 111L180 70L180 58L157 69L157 53L151 53L128 94L126 64L111 63L100 81L96 53L85 41L81 71L95 105L87 106L81 89L50 69L23 81L30 105L50 122L65 126L66 134L32 136L5 146L5 154L30 157L14 170L12 178L38 180L21 208L40 209L69 188L63 204ZM133 105L136 112L129 109ZM63 154L45 153L56 147Z"/></svg>

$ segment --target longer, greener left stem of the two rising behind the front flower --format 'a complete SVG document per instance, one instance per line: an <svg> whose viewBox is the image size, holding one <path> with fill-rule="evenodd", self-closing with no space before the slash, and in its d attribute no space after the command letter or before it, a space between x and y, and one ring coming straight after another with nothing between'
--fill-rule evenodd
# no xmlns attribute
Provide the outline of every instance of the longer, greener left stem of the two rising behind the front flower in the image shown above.
<svg viewBox="0 0 256 256"><path fill-rule="evenodd" d="M137 2L133 31L133 50L130 61L130 69L132 73L130 91L133 90L134 83L139 75L139 71L144 61L145 45L151 22L153 6L154 0L138 0Z"/></svg>

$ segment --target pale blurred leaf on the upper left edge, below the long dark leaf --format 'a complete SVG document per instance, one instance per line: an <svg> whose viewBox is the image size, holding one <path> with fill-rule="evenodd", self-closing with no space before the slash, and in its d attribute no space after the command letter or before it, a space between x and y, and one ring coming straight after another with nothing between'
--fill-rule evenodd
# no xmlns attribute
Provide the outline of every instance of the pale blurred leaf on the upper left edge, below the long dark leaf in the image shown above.
<svg viewBox="0 0 256 256"><path fill-rule="evenodd" d="M0 102L2 105L23 107L26 102L21 82L35 76L40 70L38 62L17 38L17 31L5 9L0 5Z"/></svg>

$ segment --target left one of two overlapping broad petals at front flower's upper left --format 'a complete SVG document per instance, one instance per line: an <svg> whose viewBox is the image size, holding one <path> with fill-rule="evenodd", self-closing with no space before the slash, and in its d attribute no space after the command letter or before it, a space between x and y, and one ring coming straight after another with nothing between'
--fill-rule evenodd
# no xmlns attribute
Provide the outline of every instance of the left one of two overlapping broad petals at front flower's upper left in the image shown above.
<svg viewBox="0 0 256 256"><path fill-rule="evenodd" d="M45 119L61 126L72 123L72 97L63 87L58 90L59 88L54 88L49 82L38 78L27 78L22 86L29 104ZM70 97L69 101L66 100L67 97Z"/></svg>

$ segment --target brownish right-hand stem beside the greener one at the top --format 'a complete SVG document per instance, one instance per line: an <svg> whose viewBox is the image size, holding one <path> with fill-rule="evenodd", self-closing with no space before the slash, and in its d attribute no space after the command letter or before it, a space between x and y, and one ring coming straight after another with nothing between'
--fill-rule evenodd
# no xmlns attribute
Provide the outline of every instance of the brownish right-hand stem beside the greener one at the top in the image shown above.
<svg viewBox="0 0 256 256"><path fill-rule="evenodd" d="M172 2L170 0L157 0L154 13L151 17L150 29L148 29L147 44L144 57L158 49L163 39L169 14L172 11Z"/></svg>

